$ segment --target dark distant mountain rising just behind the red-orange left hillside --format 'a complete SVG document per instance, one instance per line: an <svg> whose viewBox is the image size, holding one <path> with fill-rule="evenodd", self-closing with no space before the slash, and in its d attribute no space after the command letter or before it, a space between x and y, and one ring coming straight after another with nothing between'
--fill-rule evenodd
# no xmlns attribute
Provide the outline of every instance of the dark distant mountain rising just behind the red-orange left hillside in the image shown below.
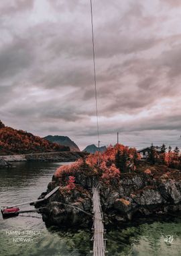
<svg viewBox="0 0 181 256"><path fill-rule="evenodd" d="M44 137L44 139L47 139L48 141L51 141L51 142L54 142L54 143L58 143L60 145L68 146L70 148L70 151L80 152L76 143L74 143L74 141L72 141L67 136L48 135L48 136Z"/></svg>

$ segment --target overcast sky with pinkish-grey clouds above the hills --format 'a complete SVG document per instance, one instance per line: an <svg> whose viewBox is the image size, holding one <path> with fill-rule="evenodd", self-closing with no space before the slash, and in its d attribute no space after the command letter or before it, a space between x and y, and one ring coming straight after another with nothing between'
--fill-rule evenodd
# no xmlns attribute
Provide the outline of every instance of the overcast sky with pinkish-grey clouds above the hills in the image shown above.
<svg viewBox="0 0 181 256"><path fill-rule="evenodd" d="M93 0L101 146L180 146L181 1ZM0 2L0 119L97 144L89 0Z"/></svg>

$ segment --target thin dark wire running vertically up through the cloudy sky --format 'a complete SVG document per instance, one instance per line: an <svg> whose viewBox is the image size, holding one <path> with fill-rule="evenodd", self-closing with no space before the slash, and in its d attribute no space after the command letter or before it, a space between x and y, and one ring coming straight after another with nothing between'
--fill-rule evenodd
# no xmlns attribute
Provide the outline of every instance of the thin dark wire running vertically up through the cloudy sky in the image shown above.
<svg viewBox="0 0 181 256"><path fill-rule="evenodd" d="M95 105L96 105L96 116L97 116L97 137L99 146L99 119L98 119L98 107L97 107L97 81L96 81L96 65L95 65L95 39L94 39L94 26L93 26L93 5L91 0L91 28L92 28L92 41L93 41L93 69L95 79Z"/></svg>

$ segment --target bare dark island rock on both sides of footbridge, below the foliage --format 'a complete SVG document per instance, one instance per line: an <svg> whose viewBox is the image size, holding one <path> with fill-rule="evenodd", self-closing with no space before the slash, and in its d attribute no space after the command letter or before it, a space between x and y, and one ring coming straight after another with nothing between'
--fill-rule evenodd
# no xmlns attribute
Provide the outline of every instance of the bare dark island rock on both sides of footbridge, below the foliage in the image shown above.
<svg viewBox="0 0 181 256"><path fill-rule="evenodd" d="M100 182L105 223L117 224L134 220L139 216L160 216L180 212L181 172L167 168L166 173L160 171L158 175L158 170L156 174L151 171L138 171L121 174L119 181L112 181L109 185ZM91 224L91 189L98 181L98 175L78 173L75 177L76 187L72 191L60 187L60 191L50 198L48 208L43 214L44 220L58 226ZM57 185L61 185L60 180L53 177L48 185L48 192Z"/></svg>

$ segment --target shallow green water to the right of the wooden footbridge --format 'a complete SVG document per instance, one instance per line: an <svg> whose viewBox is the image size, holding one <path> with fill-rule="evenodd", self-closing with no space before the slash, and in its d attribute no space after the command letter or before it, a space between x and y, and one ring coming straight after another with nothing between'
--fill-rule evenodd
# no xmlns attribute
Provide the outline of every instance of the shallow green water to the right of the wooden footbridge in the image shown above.
<svg viewBox="0 0 181 256"><path fill-rule="evenodd" d="M181 218L172 218L170 222L144 223L127 228L109 230L107 249L109 256L119 255L180 255ZM167 244L164 238L173 235L173 244Z"/></svg>

